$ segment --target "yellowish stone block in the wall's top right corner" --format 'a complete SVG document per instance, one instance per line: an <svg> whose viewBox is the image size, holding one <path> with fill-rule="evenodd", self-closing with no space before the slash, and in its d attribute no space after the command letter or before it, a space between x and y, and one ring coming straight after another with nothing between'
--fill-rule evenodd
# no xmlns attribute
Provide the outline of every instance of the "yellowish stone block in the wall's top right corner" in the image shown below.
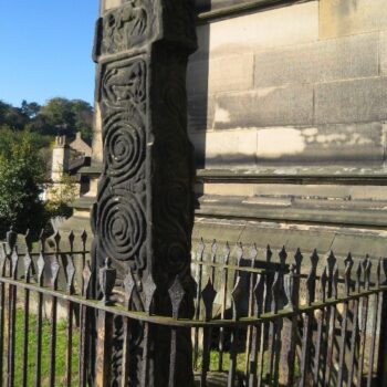
<svg viewBox="0 0 387 387"><path fill-rule="evenodd" d="M333 38L387 29L385 0L321 0L320 36Z"/></svg>

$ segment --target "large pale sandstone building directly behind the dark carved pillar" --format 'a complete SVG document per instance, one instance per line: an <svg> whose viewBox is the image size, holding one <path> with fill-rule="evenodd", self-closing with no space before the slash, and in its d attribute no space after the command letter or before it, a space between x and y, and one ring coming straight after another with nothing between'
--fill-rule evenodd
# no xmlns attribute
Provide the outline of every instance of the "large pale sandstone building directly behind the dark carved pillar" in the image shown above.
<svg viewBox="0 0 387 387"><path fill-rule="evenodd" d="M105 0L102 12L123 0ZM385 255L385 0L198 0L187 86L194 239ZM101 174L66 228L90 229Z"/></svg>

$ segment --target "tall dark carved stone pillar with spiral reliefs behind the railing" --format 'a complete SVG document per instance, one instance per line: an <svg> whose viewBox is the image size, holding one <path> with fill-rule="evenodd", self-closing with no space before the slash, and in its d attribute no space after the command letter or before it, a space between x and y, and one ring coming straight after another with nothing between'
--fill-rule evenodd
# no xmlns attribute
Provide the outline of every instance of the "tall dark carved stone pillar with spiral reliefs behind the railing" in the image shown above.
<svg viewBox="0 0 387 387"><path fill-rule="evenodd" d="M194 313L190 238L194 224L194 157L187 136L186 70L196 50L192 0L102 0L94 60L96 122L102 126L103 175L93 208L93 265L109 257L115 294L135 279L132 307L142 310L146 286L156 284L151 312L171 315L168 290L179 278L186 296L180 316ZM151 275L150 275L151 274ZM130 386L139 384L144 326L132 326ZM116 322L116 355L122 351ZM150 326L147 386L168 384L170 332ZM157 338L157 339L156 339ZM178 331L176 386L192 384L188 331ZM119 356L113 354L118 380Z"/></svg>

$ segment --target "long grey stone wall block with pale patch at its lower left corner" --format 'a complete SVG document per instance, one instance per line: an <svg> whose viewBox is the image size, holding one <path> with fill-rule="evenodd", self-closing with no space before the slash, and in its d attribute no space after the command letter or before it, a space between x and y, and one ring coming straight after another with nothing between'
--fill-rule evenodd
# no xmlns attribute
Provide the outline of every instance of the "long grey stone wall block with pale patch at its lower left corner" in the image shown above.
<svg viewBox="0 0 387 387"><path fill-rule="evenodd" d="M216 129L310 125L312 122L311 85L284 85L220 94L216 100Z"/></svg>

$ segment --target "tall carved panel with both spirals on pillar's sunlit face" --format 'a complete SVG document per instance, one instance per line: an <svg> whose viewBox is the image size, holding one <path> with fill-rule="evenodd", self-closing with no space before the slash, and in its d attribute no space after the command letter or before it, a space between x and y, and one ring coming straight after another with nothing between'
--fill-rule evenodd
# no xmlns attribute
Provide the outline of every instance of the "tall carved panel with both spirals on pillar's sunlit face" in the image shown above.
<svg viewBox="0 0 387 387"><path fill-rule="evenodd" d="M142 56L102 67L104 174L94 211L98 262L104 255L146 265L146 63Z"/></svg>

